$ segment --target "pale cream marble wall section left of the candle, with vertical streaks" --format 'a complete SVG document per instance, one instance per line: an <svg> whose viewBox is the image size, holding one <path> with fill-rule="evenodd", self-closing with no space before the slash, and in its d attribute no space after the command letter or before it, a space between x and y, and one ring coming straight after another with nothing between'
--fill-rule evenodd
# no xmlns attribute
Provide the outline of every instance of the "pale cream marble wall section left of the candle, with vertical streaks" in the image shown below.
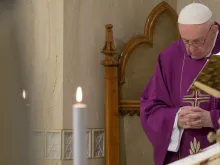
<svg viewBox="0 0 220 165"><path fill-rule="evenodd" d="M61 164L63 128L63 1L13 4L18 52L29 104L32 156L38 165Z"/></svg>

